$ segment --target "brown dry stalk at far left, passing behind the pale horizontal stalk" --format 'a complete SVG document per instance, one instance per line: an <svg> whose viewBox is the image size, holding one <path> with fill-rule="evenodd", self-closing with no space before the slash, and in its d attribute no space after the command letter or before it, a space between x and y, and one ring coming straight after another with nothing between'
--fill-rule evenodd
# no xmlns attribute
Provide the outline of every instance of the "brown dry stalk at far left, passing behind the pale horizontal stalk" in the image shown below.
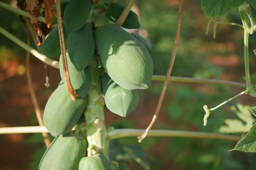
<svg viewBox="0 0 256 170"><path fill-rule="evenodd" d="M27 45L30 46L30 31L28 31ZM43 113L40 111L40 107L39 107L39 104L38 104L37 99L36 99L36 93L35 93L33 85L32 85L33 81L32 81L32 76L31 76L30 70L29 70L29 62L30 62L30 54L29 54L29 52L27 52L26 53L27 84L29 86L29 92L30 92L32 103L34 105L34 109L35 109L35 112L36 112L36 118L38 120L38 123L39 123L40 126L44 126L44 124L43 124ZM43 135L43 138L44 138L46 148L49 148L49 146L51 144L51 140L49 138L48 133L44 132L44 133L42 133L42 135Z"/></svg>

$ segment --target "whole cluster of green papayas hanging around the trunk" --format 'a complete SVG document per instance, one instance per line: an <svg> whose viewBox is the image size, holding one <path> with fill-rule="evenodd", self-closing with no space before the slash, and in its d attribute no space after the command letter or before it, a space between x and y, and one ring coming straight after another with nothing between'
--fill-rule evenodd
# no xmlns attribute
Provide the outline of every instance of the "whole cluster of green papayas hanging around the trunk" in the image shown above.
<svg viewBox="0 0 256 170"><path fill-rule="evenodd" d="M61 1L68 71L78 97L73 101L67 92L60 57L62 83L49 97L43 114L45 127L55 139L40 161L40 170L112 170L103 155L86 157L85 135L70 131L79 122L87 104L92 84L90 63L94 56L100 56L98 62L104 68L99 69L102 93L106 107L113 113L127 116L137 107L137 89L150 89L153 62L146 40L115 24L95 27L90 20L92 2L98 0ZM112 2L104 10L106 17L116 22L124 6ZM139 26L136 13L130 11L122 27ZM39 52L47 57L61 54L58 26L46 36Z"/></svg>

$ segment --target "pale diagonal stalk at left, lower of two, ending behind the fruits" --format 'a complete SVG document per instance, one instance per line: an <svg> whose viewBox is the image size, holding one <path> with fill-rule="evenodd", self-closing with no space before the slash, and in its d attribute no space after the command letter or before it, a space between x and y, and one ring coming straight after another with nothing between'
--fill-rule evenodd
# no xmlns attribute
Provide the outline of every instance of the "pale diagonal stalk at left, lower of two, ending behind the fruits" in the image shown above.
<svg viewBox="0 0 256 170"><path fill-rule="evenodd" d="M22 42L20 39L18 39L17 37L15 37L14 35L12 35L11 33L9 33L8 31L4 30L2 27L0 27L0 33L2 33L4 36L6 36L7 38L11 39L13 42L15 42L16 44L18 44L20 47L22 47L23 49L25 49L26 51L28 51L30 54L34 55L36 58L40 59L41 61L47 63L48 65L51 65L54 68L59 68L59 63L58 61L54 61L48 57L46 57L43 54L38 53L37 50L35 50L34 48L31 48L30 46L28 46L26 43Z"/></svg>

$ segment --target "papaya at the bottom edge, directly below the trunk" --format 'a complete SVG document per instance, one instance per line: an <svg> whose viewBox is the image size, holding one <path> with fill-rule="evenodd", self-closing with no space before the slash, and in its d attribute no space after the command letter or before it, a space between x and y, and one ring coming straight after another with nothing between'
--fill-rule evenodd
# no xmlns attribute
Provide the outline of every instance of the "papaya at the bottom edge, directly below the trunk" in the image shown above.
<svg viewBox="0 0 256 170"><path fill-rule="evenodd" d="M83 157L79 162L79 170L112 170L110 162L102 154Z"/></svg>

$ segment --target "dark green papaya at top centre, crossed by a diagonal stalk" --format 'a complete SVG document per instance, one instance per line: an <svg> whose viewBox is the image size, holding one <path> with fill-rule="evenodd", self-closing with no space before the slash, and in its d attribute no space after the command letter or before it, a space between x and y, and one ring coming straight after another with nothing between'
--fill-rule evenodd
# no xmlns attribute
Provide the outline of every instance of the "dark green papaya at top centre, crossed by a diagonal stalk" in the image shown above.
<svg viewBox="0 0 256 170"><path fill-rule="evenodd" d="M112 2L108 4L108 7L105 11L105 15L110 21L116 22L123 11L124 11L123 5ZM139 19L137 14L130 10L122 27L127 29L139 28L140 24L139 24Z"/></svg>

